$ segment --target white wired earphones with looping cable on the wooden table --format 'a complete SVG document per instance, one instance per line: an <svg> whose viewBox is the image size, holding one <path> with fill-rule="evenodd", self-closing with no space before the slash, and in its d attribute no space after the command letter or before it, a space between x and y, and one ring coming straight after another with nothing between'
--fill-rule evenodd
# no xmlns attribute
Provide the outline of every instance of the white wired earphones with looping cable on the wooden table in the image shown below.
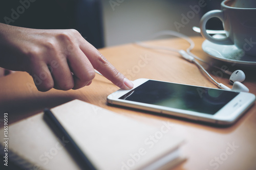
<svg viewBox="0 0 256 170"><path fill-rule="evenodd" d="M137 42L136 44L142 46L142 47L146 47L146 48L152 48L152 49L159 49L159 50L167 50L167 51L173 51L173 52L177 52L179 53L184 59L186 59L187 61L196 64L198 67L200 67L205 74L212 80L214 81L219 88L225 89L225 90L232 90L232 91L238 91L238 92L249 92L249 89L242 84L241 82L243 82L245 80L245 74L242 70L236 70L233 73L231 73L228 70L223 70L215 65L211 65L209 63L207 63L206 61L202 60L201 58L197 57L196 55L194 55L193 53L191 53L190 51L194 48L195 43L193 42L193 40L191 40L191 38L189 38L188 36L175 32L175 31L162 31L159 32L155 35L155 37L157 36L163 36L163 35L172 35L172 36L176 36L179 38L182 38L186 41L188 41L190 43L190 46L187 48L186 51L184 50L177 50L175 48L171 48L171 47L162 47L162 46L151 46L151 45L147 45L141 42ZM225 86L222 83L218 83L214 78L212 78L208 72L204 69L204 67L197 61L197 60L204 62L210 66L214 66L215 68L221 69L223 72L225 72L228 75L231 75L229 78L230 83L233 84L232 88L230 89L229 87Z"/></svg>

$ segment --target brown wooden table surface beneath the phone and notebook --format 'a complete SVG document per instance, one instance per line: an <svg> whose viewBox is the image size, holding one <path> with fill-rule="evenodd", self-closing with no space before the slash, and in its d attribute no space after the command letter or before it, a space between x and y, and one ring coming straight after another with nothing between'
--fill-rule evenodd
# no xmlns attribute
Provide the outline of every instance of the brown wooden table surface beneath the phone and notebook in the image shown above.
<svg viewBox="0 0 256 170"><path fill-rule="evenodd" d="M219 66L227 66L231 71L237 65L216 61L208 57L201 48L202 37L193 37L196 47L192 51L199 57ZM186 49L188 43L181 39L164 39L148 44L171 46ZM136 44L103 48L100 52L127 78L156 79L206 87L216 87L198 67L181 58L178 54L166 51L148 50ZM256 94L256 71L243 68L246 74L244 84ZM227 75L214 74L218 71L209 68L210 74L219 82L229 84ZM32 78L26 72L15 72L0 78L0 112L9 113L9 123L15 123L42 111L68 101L79 99L114 112L129 116L139 122L161 127L162 121L173 124L174 133L186 137L181 153L188 159L174 169L256 169L256 105L230 127L216 127L185 119L150 114L146 111L114 107L106 104L106 96L118 88L104 77L96 75L90 86L69 91L52 89L39 92ZM1 120L3 116L0 117ZM2 126L3 124L1 124ZM233 147L231 147L233 145Z"/></svg>

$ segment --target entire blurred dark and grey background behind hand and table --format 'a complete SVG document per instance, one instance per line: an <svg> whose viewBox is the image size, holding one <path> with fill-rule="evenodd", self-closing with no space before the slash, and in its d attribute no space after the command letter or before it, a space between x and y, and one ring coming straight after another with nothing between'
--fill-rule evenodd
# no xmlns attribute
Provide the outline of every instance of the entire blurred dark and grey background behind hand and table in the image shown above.
<svg viewBox="0 0 256 170"><path fill-rule="evenodd" d="M8 0L0 22L37 29L78 30L97 48L151 39L162 30L187 36L201 16L220 9L222 0ZM221 29L218 19L208 29Z"/></svg>

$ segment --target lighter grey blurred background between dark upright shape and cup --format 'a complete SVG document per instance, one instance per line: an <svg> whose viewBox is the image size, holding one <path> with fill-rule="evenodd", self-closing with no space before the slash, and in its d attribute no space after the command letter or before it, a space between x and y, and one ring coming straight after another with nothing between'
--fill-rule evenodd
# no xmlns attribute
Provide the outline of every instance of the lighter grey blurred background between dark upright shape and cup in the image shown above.
<svg viewBox="0 0 256 170"><path fill-rule="evenodd" d="M220 9L222 1L124 0L112 6L110 1L101 2L105 45L111 46L148 40L152 34L162 30L174 30L187 36L199 35L192 27L199 27L200 18L207 11ZM218 30L222 23L212 19L207 27Z"/></svg>

